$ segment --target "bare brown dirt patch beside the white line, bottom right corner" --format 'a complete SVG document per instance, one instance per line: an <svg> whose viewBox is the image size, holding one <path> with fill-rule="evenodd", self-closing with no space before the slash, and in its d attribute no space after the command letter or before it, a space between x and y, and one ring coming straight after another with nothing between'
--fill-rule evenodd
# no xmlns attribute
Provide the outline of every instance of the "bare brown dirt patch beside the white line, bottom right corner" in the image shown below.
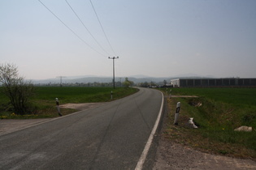
<svg viewBox="0 0 256 170"><path fill-rule="evenodd" d="M210 155L161 137L153 169L256 169L256 162Z"/></svg>

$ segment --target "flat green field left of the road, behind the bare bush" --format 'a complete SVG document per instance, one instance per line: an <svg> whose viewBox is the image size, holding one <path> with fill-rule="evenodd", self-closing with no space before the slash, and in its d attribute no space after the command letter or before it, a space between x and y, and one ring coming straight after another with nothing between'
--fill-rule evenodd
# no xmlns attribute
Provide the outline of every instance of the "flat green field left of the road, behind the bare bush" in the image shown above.
<svg viewBox="0 0 256 170"><path fill-rule="evenodd" d="M1 90L2 87L0 87ZM6 96L0 93L0 117L1 118L39 118L57 117L55 98L59 98L59 104L67 103L97 103L117 100L131 95L137 91L136 88L117 87L35 87L35 94L30 100L31 113L20 117L12 113ZM74 113L76 110L63 108L63 115Z"/></svg>

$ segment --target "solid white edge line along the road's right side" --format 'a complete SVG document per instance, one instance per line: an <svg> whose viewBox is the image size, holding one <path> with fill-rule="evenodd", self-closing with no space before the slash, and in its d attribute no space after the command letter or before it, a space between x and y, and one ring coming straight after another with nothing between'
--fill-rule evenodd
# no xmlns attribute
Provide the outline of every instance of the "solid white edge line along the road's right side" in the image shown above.
<svg viewBox="0 0 256 170"><path fill-rule="evenodd" d="M143 150L143 152L141 154L141 158L139 159L135 170L141 170L143 168L143 164L145 162L145 158L148 155L148 152L150 151L150 146L151 146L151 143L153 141L154 134L155 134L155 132L156 132L156 130L158 128L158 124L159 124L160 118L162 116L162 111L163 111L163 92L161 92L161 94L162 94L162 104L161 104L160 111L158 113L158 118L157 118L157 120L154 123L153 130L151 131L151 134L150 134L150 137L148 139L148 142L146 142L146 144L145 144L145 148L144 148L144 150Z"/></svg>

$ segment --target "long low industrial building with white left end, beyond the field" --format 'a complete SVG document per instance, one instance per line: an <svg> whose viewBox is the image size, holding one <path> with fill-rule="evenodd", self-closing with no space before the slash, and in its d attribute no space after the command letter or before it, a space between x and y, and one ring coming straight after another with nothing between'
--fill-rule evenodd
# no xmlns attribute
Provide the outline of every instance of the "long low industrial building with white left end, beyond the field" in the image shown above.
<svg viewBox="0 0 256 170"><path fill-rule="evenodd" d="M171 79L173 87L256 87L255 78Z"/></svg>

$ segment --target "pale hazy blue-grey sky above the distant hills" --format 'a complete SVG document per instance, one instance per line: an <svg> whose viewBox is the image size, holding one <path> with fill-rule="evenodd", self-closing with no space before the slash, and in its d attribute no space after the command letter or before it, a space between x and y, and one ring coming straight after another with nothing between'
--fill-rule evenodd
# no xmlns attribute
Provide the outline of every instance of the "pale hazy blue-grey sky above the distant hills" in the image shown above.
<svg viewBox="0 0 256 170"><path fill-rule="evenodd" d="M112 76L109 56L117 77L256 77L255 0L91 0L115 53L89 0L67 2L98 43L65 0L41 2L0 0L0 63L26 79Z"/></svg>

